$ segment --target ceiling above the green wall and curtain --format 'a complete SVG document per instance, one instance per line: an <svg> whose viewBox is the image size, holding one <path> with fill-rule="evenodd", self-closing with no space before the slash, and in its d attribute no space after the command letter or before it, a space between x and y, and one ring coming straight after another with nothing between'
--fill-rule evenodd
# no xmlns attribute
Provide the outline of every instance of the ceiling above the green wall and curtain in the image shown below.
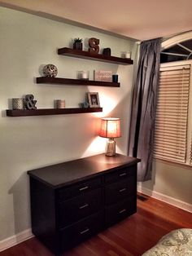
<svg viewBox="0 0 192 256"><path fill-rule="evenodd" d="M5 0L0 5L138 40L192 29L192 0Z"/></svg>

